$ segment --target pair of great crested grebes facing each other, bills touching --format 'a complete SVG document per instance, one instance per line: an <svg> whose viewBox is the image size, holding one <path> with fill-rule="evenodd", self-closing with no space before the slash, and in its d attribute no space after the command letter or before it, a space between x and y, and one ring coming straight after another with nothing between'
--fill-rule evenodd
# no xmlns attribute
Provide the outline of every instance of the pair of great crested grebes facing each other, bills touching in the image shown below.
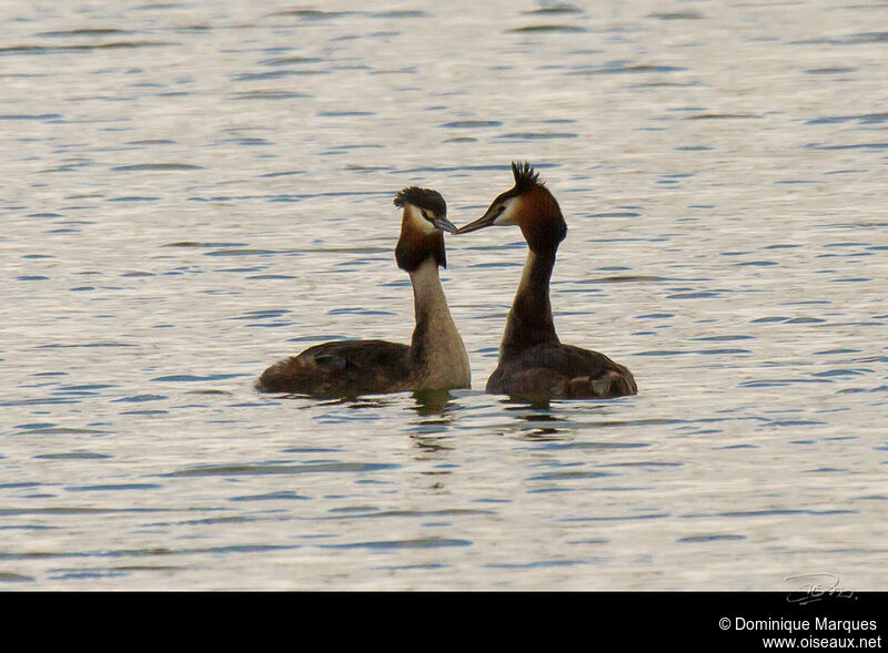
<svg viewBox="0 0 888 653"><path fill-rule="evenodd" d="M512 164L515 185L476 221L456 228L436 191L404 188L395 247L397 266L413 284L416 327L410 346L385 340L324 343L266 369L256 388L266 392L354 397L404 390L471 387L468 356L447 308L437 268L446 267L444 234L517 225L527 242L500 363L486 391L516 399L592 399L635 395L632 373L604 354L563 345L555 333L549 279L567 224L555 197L529 164Z"/></svg>

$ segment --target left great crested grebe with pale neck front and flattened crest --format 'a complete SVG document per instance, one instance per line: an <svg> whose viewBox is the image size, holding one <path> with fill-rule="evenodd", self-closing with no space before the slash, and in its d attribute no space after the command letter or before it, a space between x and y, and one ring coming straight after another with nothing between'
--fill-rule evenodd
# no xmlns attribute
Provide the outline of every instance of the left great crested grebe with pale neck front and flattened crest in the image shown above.
<svg viewBox="0 0 888 653"><path fill-rule="evenodd" d="M403 207L397 266L410 274L416 327L410 346L385 340L337 340L309 347L268 368L255 384L263 392L314 396L468 388L468 356L441 287L447 266L444 234L456 227L437 191L411 186L394 201Z"/></svg>

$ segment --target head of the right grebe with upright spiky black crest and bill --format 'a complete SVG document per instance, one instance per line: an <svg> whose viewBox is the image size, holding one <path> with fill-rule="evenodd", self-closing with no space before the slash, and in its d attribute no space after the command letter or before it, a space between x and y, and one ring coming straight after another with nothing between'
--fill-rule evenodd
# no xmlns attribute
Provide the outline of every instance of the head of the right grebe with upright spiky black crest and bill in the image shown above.
<svg viewBox="0 0 888 653"><path fill-rule="evenodd" d="M490 226L517 225L534 252L555 251L567 235L567 224L555 197L529 163L512 163L515 185L496 196L480 218L461 226L467 234Z"/></svg>

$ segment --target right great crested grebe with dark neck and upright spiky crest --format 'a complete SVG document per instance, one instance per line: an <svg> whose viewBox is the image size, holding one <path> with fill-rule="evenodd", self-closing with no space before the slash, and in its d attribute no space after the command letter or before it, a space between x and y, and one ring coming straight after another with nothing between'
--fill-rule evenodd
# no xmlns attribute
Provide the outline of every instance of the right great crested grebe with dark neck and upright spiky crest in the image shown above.
<svg viewBox="0 0 888 653"><path fill-rule="evenodd" d="M548 286L567 224L555 197L528 163L513 163L512 174L515 186L498 195L480 218L456 229L466 234L488 226L518 225L529 249L487 392L519 399L635 395L638 387L628 369L604 354L558 340Z"/></svg>

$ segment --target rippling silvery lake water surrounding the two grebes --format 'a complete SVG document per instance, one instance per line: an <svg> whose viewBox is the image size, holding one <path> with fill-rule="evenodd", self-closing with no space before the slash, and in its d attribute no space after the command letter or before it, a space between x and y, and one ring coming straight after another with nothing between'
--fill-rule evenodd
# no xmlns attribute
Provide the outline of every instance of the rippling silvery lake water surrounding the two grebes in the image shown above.
<svg viewBox="0 0 888 653"><path fill-rule="evenodd" d="M0 588L888 586L888 3L3 7ZM484 395L517 229L447 237L472 390L253 391L407 341L394 193L513 160L637 397Z"/></svg>

